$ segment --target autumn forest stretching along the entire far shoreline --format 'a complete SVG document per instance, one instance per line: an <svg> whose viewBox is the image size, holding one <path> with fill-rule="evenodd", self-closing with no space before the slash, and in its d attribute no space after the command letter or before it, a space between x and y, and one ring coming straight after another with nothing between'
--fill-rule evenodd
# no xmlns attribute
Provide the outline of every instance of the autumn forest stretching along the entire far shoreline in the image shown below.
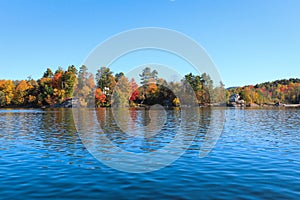
<svg viewBox="0 0 300 200"><path fill-rule="evenodd" d="M225 89L221 82L213 83L206 73L189 73L180 81L167 82L156 70L144 68L140 82L128 79L123 72L114 73L101 67L96 75L82 65L53 72L46 69L38 80L0 80L0 107L60 107L76 100L81 106L118 107L162 104L168 107L183 105L191 97L181 95L192 90L200 106L226 105L232 94L239 94L247 104L258 105L300 101L300 79L283 79L257 85Z"/></svg>

